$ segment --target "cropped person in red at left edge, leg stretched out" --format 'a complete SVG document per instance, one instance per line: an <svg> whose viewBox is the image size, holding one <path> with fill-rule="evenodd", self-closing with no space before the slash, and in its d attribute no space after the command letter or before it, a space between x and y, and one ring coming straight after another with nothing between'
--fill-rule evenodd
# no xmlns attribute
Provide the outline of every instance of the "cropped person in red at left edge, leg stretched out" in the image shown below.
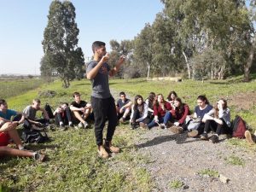
<svg viewBox="0 0 256 192"><path fill-rule="evenodd" d="M44 160L44 154L27 151L23 147L19 134L16 130L17 122L6 122L0 127L0 157L3 155L30 157L34 160ZM9 148L9 140L12 139L18 148Z"/></svg>

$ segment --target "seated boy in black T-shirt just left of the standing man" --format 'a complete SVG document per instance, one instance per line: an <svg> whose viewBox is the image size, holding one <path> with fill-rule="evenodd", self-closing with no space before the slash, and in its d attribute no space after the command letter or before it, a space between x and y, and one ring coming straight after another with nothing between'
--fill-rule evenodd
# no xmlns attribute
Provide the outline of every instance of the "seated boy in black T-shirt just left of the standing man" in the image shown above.
<svg viewBox="0 0 256 192"><path fill-rule="evenodd" d="M91 112L91 105L83 100L79 92L73 93L74 102L70 104L70 110L73 112L74 124L79 124L80 128L88 127L88 123L85 121L89 118Z"/></svg>

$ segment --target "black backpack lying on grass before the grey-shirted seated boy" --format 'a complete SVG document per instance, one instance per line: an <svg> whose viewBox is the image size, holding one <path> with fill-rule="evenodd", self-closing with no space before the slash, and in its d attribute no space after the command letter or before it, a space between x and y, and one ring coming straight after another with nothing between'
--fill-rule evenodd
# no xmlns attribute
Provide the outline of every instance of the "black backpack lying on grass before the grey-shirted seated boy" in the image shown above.
<svg viewBox="0 0 256 192"><path fill-rule="evenodd" d="M49 137L47 136L45 131L37 131L37 130L24 130L22 132L21 138L25 143L44 143L49 141Z"/></svg>

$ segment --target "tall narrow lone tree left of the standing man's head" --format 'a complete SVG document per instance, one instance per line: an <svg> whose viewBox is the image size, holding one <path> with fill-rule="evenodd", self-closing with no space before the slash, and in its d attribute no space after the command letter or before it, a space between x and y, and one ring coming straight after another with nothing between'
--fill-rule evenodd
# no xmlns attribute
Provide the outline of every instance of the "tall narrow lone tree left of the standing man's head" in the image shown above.
<svg viewBox="0 0 256 192"><path fill-rule="evenodd" d="M61 78L64 88L83 73L84 54L78 47L79 29L75 17L73 3L55 0L49 6L48 24L44 29L44 56L48 58L49 68Z"/></svg>

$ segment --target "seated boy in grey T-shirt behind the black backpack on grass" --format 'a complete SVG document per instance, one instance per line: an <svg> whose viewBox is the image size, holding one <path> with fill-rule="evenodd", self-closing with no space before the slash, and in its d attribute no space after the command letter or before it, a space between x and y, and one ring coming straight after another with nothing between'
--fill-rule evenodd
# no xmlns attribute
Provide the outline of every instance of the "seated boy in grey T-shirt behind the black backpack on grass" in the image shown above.
<svg viewBox="0 0 256 192"><path fill-rule="evenodd" d="M49 116L44 108L40 107L41 101L39 99L33 99L32 105L27 106L23 110L23 115L25 116L24 127L26 129L37 129L37 127L49 125ZM42 111L44 119L37 119L36 114L38 111Z"/></svg>

